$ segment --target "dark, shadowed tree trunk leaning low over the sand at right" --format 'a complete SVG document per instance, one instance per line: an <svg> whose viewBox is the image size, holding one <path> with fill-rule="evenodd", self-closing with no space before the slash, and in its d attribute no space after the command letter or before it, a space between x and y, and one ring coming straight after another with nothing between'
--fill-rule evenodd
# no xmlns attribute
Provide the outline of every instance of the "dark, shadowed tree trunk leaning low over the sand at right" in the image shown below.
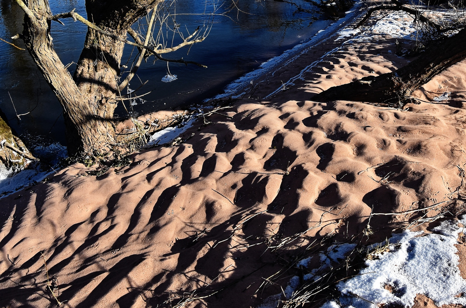
<svg viewBox="0 0 466 308"><path fill-rule="evenodd" d="M361 80L331 87L312 100L354 100L403 106L411 101L411 93L445 68L466 58L466 29L439 40L418 59L395 72L368 76Z"/></svg>

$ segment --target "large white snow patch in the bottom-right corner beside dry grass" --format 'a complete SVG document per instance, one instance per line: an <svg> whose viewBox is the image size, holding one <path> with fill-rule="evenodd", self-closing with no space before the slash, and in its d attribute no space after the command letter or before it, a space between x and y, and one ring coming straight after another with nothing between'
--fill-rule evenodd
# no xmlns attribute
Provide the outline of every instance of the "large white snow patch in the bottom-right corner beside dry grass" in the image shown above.
<svg viewBox="0 0 466 308"><path fill-rule="evenodd" d="M394 234L390 251L366 261L359 275L340 282L339 302L322 307L376 308L391 303L412 307L418 294L428 296L438 307L466 305L466 281L454 246L465 224L466 219L444 221L432 234L409 230ZM387 285L392 292L385 289Z"/></svg>

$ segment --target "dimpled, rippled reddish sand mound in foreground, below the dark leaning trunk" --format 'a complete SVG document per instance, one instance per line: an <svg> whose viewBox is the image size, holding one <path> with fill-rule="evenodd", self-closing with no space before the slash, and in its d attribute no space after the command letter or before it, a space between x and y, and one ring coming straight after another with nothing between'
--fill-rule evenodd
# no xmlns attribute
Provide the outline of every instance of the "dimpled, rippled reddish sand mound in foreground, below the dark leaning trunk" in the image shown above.
<svg viewBox="0 0 466 308"><path fill-rule="evenodd" d="M84 176L73 165L3 199L1 304L53 305L42 291L42 251L69 307L146 307L143 299L150 307L164 292L212 280L239 281L210 303L257 305L247 287L277 265L254 244L309 228L343 239L361 233L371 212L427 207L461 185L462 109L288 100L226 114L117 173ZM397 218L371 225L390 234Z"/></svg>

